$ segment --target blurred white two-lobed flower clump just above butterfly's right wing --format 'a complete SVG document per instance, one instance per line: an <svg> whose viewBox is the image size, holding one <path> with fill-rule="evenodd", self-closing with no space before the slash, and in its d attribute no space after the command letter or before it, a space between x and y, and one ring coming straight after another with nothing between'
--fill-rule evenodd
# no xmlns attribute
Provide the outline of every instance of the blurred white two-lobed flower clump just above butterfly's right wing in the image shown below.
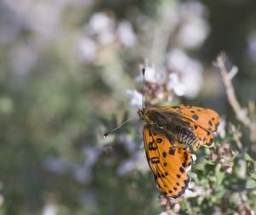
<svg viewBox="0 0 256 215"><path fill-rule="evenodd" d="M183 50L175 48L167 55L167 65L172 71L180 73L180 82L185 87L184 95L194 98L203 83L201 64L195 59L190 59Z"/></svg>

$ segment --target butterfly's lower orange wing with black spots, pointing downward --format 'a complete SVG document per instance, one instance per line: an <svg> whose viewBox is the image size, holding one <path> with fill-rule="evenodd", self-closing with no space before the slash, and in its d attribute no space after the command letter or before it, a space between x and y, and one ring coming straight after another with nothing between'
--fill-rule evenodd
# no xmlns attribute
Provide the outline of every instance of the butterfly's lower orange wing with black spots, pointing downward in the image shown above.
<svg viewBox="0 0 256 215"><path fill-rule="evenodd" d="M155 133L149 125L143 128L143 137L148 164L156 184L166 197L177 199L183 195L190 181L186 173L192 162L189 150L171 143L165 136Z"/></svg>

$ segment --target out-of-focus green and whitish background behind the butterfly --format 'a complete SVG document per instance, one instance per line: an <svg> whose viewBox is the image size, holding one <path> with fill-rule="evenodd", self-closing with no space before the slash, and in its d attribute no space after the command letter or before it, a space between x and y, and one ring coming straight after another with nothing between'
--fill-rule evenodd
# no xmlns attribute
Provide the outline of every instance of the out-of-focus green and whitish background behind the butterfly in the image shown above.
<svg viewBox="0 0 256 215"><path fill-rule="evenodd" d="M204 106L237 124L212 61L224 50L239 67L241 105L256 99L255 8L253 0L1 0L0 214L160 213L138 118L102 133L140 107L143 66L153 74L146 81L166 84L161 105ZM241 139L255 157L246 129Z"/></svg>

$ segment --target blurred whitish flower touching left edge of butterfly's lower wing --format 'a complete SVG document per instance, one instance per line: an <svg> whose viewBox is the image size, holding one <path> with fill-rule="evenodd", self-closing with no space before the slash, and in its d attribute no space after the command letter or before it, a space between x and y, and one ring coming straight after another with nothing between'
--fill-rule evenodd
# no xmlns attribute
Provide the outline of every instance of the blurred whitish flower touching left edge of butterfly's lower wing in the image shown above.
<svg viewBox="0 0 256 215"><path fill-rule="evenodd" d="M150 170L144 150L138 150L130 159L122 161L118 168L118 174L125 175L132 170L142 173L147 173Z"/></svg>

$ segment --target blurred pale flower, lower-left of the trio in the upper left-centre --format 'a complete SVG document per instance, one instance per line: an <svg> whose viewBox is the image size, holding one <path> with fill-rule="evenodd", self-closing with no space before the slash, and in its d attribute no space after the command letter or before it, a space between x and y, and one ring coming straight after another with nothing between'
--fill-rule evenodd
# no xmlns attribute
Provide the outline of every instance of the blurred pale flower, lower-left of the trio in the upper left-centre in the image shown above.
<svg viewBox="0 0 256 215"><path fill-rule="evenodd" d="M85 62L90 62L96 57L96 42L90 37L83 37L78 43L79 56Z"/></svg>

